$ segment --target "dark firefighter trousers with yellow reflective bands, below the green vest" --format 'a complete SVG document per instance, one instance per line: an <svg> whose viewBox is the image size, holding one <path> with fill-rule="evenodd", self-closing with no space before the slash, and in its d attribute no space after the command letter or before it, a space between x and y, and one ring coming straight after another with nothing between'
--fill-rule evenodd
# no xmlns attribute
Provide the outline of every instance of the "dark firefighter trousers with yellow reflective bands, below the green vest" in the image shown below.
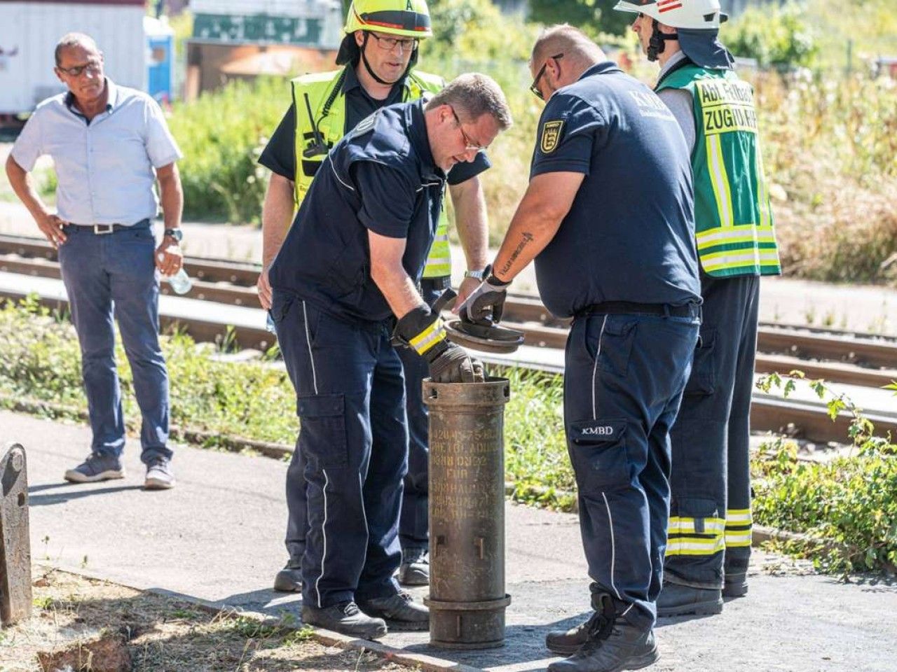
<svg viewBox="0 0 897 672"><path fill-rule="evenodd" d="M673 427L666 580L721 588L751 554L749 417L760 278L701 276L701 345Z"/></svg>

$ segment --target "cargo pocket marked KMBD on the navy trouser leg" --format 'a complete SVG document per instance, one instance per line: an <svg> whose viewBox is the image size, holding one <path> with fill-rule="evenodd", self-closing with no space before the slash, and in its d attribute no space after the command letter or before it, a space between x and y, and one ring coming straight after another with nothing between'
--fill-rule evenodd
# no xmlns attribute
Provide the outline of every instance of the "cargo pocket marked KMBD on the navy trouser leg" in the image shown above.
<svg viewBox="0 0 897 672"><path fill-rule="evenodd" d="M625 420L579 420L570 423L568 432L580 492L597 494L629 485Z"/></svg>

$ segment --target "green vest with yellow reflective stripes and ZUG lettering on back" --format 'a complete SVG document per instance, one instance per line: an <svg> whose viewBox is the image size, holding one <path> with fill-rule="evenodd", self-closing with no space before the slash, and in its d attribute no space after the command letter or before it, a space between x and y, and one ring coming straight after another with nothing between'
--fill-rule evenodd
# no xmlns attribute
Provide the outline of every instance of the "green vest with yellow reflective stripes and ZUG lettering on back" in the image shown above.
<svg viewBox="0 0 897 672"><path fill-rule="evenodd" d="M694 100L694 224L701 267L716 277L778 275L753 88L731 70L686 65L658 84L658 91L664 89L688 90Z"/></svg>

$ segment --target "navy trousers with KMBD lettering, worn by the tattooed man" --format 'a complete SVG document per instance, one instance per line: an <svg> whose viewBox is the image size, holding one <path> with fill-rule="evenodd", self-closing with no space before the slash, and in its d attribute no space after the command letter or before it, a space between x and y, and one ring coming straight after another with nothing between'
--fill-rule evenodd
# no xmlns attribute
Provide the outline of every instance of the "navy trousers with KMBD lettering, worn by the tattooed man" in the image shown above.
<svg viewBox="0 0 897 672"><path fill-rule="evenodd" d="M593 314L577 318L567 340L564 424L588 575L630 603L627 619L644 629L663 579L669 431L698 340L694 311Z"/></svg>

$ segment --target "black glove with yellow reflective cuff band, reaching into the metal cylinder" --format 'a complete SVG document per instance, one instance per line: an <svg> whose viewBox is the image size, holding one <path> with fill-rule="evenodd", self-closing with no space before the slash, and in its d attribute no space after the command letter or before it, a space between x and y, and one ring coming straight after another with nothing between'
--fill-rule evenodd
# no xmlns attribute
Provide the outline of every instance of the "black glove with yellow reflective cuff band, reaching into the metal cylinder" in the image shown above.
<svg viewBox="0 0 897 672"><path fill-rule="evenodd" d="M483 365L466 350L449 343L442 321L427 306L418 306L396 323L395 340L427 360L433 383L482 383Z"/></svg>

